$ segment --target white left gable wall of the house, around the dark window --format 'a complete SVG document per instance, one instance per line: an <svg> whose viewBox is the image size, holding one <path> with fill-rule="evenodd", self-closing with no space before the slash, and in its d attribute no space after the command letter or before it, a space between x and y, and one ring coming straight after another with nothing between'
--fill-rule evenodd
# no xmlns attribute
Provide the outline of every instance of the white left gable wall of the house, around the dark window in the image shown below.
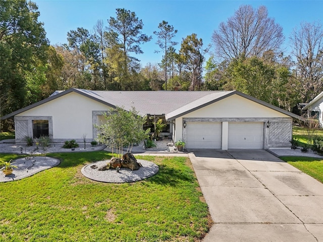
<svg viewBox="0 0 323 242"><path fill-rule="evenodd" d="M52 118L52 139L64 142L68 139L83 141L86 134L87 142L93 140L93 110L106 111L109 106L99 103L75 92L53 99L42 105L29 109L15 116L15 119L26 119L35 116ZM32 127L28 127L32 134Z"/></svg>

